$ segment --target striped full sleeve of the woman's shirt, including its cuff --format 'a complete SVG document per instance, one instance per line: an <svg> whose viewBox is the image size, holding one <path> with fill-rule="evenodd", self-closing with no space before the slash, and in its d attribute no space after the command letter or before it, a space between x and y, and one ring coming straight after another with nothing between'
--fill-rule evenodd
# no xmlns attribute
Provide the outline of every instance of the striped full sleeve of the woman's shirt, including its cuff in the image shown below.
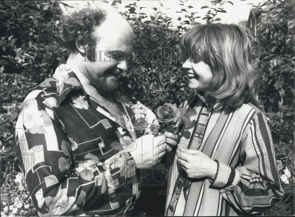
<svg viewBox="0 0 295 217"><path fill-rule="evenodd" d="M241 165L220 163L210 187L220 188L223 198L242 213L255 214L272 208L283 197L276 169L271 132L266 117L258 111L242 136Z"/></svg>

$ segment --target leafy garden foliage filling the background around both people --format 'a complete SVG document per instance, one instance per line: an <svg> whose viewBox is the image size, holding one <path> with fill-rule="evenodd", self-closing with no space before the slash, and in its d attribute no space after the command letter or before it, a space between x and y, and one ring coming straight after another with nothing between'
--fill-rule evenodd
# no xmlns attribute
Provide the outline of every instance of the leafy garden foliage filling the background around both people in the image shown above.
<svg viewBox="0 0 295 217"><path fill-rule="evenodd" d="M90 3L89 3L90 2ZM119 0L104 1L118 8ZM260 109L270 118L279 175L285 196L267 214L294 215L294 1L264 1L255 8L274 3L268 18L258 26L253 39L255 65L262 71ZM88 1L87 4L91 4ZM186 1L179 1L175 26L171 17L158 12L148 16L136 1L125 7L123 16L130 22L136 35L134 50L169 48L175 55L181 35L187 28L198 25L198 19L218 22L218 14L226 13L223 4L231 1L208 1L205 17ZM68 54L63 47L60 6L72 6L60 1L0 1L0 157L1 157L1 216L36 216L37 213L19 171L14 126L25 96L47 77L53 75L58 62ZM161 7L161 6L159 6ZM234 6L233 6L234 7ZM148 18L148 20L146 19ZM168 54L165 54L168 59ZM162 56L163 57L163 56ZM142 59L144 56L142 56ZM178 105L191 92L186 88L186 76L177 61L130 62L129 71L120 77L123 89L142 101L166 100ZM165 161L165 160L164 160ZM161 166L145 171L142 183L141 210L146 215L163 215L167 174ZM159 184L160 183L160 184ZM153 187L151 187L153 185ZM149 203L146 203L149 201Z"/></svg>

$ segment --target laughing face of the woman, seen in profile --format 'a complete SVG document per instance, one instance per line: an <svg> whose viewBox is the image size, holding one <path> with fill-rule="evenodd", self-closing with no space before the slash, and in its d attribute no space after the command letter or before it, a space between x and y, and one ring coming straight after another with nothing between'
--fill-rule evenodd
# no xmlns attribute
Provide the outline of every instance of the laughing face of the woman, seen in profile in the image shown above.
<svg viewBox="0 0 295 217"><path fill-rule="evenodd" d="M212 71L208 64L204 62L193 62L187 59L182 65L187 69L189 76L189 88L191 90L200 90L204 93L208 91L209 81L212 78Z"/></svg>

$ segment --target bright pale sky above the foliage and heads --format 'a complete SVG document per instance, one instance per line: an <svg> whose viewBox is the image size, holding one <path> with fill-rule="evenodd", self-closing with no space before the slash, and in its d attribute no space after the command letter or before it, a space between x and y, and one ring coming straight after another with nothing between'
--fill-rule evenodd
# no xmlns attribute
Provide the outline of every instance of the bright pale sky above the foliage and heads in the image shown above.
<svg viewBox="0 0 295 217"><path fill-rule="evenodd" d="M112 0L107 0L109 4L112 3ZM162 13L167 14L167 16L175 18L173 19L173 22L178 22L176 18L178 16L183 15L184 13L176 13L176 11L180 11L181 8L186 7L186 10L191 13L191 12L198 12L195 14L196 16L204 17L206 15L208 8L205 9L200 9L202 6L209 6L211 7L211 0L183 0L184 6L181 6L179 4L182 4L179 0L123 0L121 6L118 8L119 11L126 11L127 8L124 8L128 4L132 4L133 2L136 2L138 7L149 7L149 8L142 8L141 11L151 15L155 13L155 10L152 9L152 7L158 8L157 11L160 11ZM238 23L239 20L248 20L248 16L250 13L250 9L252 8L252 4L257 5L260 3L262 0L245 0L245 1L240 1L240 0L231 0L231 2L234 4L230 3L225 3L222 5L223 9L227 13L219 13L217 17L221 19L222 23ZM63 1L66 4L69 5L78 5L79 7L81 5L86 5L87 2L89 4L101 4L101 5L107 5L107 3L102 2L102 1ZM160 6L160 4L163 4L163 7ZM192 6L193 8L188 8L187 6ZM201 18L195 19L196 22L200 23L205 23L205 20L202 20ZM176 23L177 24L177 23Z"/></svg>

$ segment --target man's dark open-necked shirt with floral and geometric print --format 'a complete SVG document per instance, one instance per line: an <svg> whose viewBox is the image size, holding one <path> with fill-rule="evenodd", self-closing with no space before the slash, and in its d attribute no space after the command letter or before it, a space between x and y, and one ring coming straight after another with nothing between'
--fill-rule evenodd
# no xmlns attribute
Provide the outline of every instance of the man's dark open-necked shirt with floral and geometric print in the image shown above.
<svg viewBox="0 0 295 217"><path fill-rule="evenodd" d="M40 216L114 215L138 198L139 177L125 149L136 139L133 112L122 92L114 98L124 123L62 64L24 100L16 140Z"/></svg>

